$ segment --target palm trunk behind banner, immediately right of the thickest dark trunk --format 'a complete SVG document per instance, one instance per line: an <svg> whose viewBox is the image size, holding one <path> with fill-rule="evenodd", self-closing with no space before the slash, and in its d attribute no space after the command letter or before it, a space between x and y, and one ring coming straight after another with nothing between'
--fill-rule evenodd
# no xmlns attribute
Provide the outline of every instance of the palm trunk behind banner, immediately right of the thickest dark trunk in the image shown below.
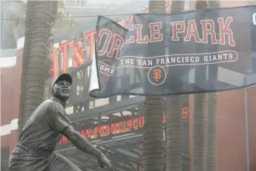
<svg viewBox="0 0 256 171"><path fill-rule="evenodd" d="M184 11L184 1L172 1L172 13ZM182 104L188 95L166 98L166 171L182 171Z"/></svg>

